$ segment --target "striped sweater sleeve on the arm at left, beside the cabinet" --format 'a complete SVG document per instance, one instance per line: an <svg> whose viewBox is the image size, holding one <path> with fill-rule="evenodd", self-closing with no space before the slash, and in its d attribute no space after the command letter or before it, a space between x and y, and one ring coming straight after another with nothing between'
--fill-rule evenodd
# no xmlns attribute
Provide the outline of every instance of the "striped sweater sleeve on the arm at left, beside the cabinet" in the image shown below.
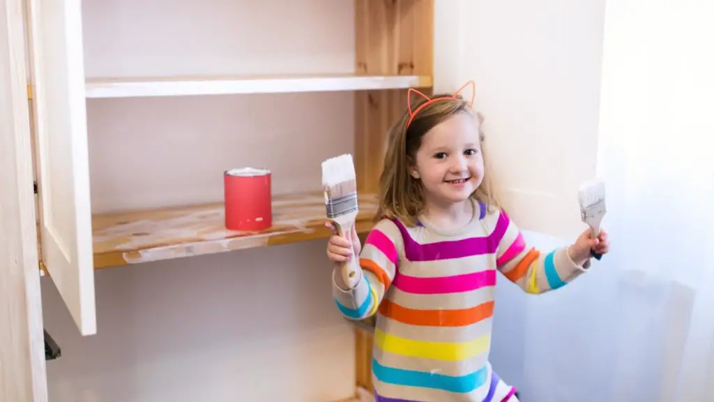
<svg viewBox="0 0 714 402"><path fill-rule="evenodd" d="M332 281L332 294L342 315L351 320L368 318L377 311L384 293L394 279L398 267L401 233L391 220L375 225L362 246L359 262L361 280L351 290L340 288ZM334 275L340 275L336 268Z"/></svg>

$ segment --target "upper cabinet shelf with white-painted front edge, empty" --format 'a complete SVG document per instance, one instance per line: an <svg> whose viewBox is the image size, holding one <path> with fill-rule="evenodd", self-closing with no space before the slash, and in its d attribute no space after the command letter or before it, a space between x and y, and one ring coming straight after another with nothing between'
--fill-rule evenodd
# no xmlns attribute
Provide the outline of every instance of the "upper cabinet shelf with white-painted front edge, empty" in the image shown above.
<svg viewBox="0 0 714 402"><path fill-rule="evenodd" d="M357 91L431 87L418 75L297 75L250 77L163 77L87 79L86 97L173 97L278 92Z"/></svg>

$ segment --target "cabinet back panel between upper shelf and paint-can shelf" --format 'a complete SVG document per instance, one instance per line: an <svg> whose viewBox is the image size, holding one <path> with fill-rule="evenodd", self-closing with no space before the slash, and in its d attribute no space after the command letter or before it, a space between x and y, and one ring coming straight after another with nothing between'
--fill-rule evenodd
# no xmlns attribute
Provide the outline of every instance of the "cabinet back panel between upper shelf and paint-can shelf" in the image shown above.
<svg viewBox="0 0 714 402"><path fill-rule="evenodd" d="M223 171L266 167L273 193L321 188L354 148L351 92L89 99L96 213L223 200Z"/></svg>

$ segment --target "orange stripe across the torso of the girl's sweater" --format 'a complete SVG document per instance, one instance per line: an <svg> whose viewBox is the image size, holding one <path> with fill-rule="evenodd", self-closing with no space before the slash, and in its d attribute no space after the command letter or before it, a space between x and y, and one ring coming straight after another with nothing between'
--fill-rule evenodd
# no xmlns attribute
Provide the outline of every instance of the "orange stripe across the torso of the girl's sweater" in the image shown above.
<svg viewBox="0 0 714 402"><path fill-rule="evenodd" d="M458 310L413 310L402 307L391 300L383 299L379 313L387 318L411 325L431 327L463 327L478 323L493 315L493 302L486 302L472 308Z"/></svg>

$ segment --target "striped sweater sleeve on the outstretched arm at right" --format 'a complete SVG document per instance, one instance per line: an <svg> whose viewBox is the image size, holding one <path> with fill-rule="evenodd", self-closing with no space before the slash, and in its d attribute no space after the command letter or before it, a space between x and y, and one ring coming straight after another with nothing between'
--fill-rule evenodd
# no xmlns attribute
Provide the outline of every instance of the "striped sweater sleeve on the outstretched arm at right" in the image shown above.
<svg viewBox="0 0 714 402"><path fill-rule="evenodd" d="M541 253L528 246L523 233L506 212L499 211L493 219L496 225L491 237L498 245L496 267L526 293L538 294L558 289L585 272L584 268L570 260L567 247Z"/></svg>

